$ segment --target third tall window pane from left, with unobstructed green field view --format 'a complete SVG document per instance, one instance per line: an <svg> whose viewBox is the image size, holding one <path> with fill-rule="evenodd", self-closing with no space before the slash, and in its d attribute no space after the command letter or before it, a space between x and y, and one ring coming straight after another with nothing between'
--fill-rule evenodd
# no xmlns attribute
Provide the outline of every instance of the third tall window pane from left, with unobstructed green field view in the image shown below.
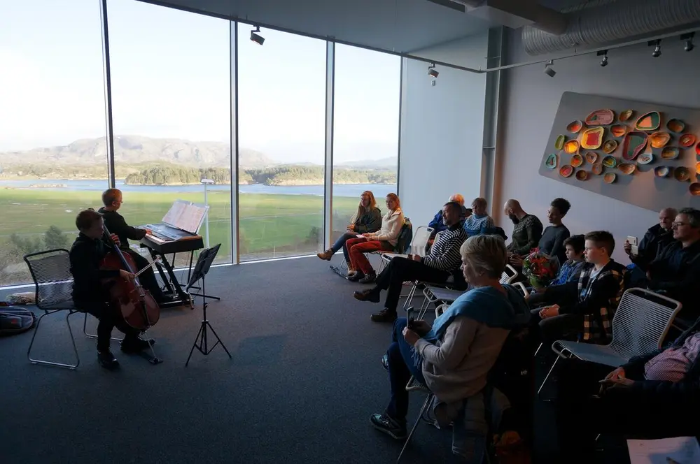
<svg viewBox="0 0 700 464"><path fill-rule="evenodd" d="M238 27L241 261L323 245L325 41Z"/></svg>

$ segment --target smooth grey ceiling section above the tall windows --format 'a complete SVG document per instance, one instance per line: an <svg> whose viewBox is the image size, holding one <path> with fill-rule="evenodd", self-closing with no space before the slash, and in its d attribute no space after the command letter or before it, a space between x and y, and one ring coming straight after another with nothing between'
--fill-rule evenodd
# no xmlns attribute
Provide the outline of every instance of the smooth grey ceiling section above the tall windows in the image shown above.
<svg viewBox="0 0 700 464"><path fill-rule="evenodd" d="M427 0L141 1L399 53L454 41L496 25Z"/></svg>

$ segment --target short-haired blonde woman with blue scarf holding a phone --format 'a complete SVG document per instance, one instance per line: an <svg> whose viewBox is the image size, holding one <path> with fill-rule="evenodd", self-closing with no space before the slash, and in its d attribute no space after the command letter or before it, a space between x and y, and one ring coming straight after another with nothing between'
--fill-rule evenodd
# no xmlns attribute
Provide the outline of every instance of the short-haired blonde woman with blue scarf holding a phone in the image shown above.
<svg viewBox="0 0 700 464"><path fill-rule="evenodd" d="M435 319L405 318L394 323L392 343L382 358L389 373L391 400L381 414L372 414L374 428L402 440L406 437L408 395L413 375L430 389L442 411L458 412L463 402L486 386L508 333L528 319L521 293L498 280L505 268L505 242L494 235L468 238L460 249L462 270L472 290ZM448 416L453 419L454 416Z"/></svg>

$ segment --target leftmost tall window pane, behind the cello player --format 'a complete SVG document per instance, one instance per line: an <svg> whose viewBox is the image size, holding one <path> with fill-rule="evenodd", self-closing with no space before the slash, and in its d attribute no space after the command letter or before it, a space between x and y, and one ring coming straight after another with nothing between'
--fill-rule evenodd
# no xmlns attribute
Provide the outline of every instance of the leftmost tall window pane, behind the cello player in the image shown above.
<svg viewBox="0 0 700 464"><path fill-rule="evenodd" d="M107 186L99 2L0 2L0 285L70 247Z"/></svg>

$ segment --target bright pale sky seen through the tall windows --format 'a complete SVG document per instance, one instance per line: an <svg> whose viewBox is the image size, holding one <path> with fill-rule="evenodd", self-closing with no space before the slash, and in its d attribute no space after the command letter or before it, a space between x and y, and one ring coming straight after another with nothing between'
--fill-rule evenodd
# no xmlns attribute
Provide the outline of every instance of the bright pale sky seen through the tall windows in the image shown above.
<svg viewBox="0 0 700 464"><path fill-rule="evenodd" d="M0 3L0 152L105 135L99 0ZM230 140L230 22L108 0L116 135ZM323 164L325 41L239 24L239 146ZM335 161L395 157L400 58L336 45Z"/></svg>

